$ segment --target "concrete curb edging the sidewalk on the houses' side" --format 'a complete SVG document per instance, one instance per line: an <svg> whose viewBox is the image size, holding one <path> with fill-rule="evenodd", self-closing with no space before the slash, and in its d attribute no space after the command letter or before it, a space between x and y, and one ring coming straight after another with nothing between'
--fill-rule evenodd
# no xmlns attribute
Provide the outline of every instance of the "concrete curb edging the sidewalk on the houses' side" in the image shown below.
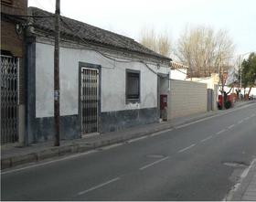
<svg viewBox="0 0 256 202"><path fill-rule="evenodd" d="M250 102L250 103L254 103L254 102ZM246 105L250 104L250 103L246 103ZM245 104L243 104L241 106L244 106L244 105ZM241 106L238 106L237 108L240 108ZM109 140L108 139L107 140L99 140L98 142L95 142L92 144L85 144L85 143L73 144L72 143L69 145L63 145L63 146L59 146L59 147L49 147L47 149L43 149L43 150L40 150L40 151L37 151L34 153L30 153L30 154L17 154L17 155L11 156L11 157L6 157L4 159L1 158L1 170L10 168L10 167L13 167L16 165L24 165L24 164L28 164L28 163L34 163L34 162L38 162L41 160L46 160L48 158L58 157L61 155L83 153L83 152L88 152L93 149L101 148L101 147L107 146L107 145L125 143L134 138L148 136L152 133L162 132L167 129L175 128L179 125L187 124L189 122L196 122L196 121L208 118L208 117L212 117L212 116L219 114L220 112L225 112L225 111L206 113L200 117L187 119L186 121L183 121L183 122L159 125L159 127L155 127L154 129L152 129L150 131L130 133L125 136L113 137L112 139L109 139Z"/></svg>

